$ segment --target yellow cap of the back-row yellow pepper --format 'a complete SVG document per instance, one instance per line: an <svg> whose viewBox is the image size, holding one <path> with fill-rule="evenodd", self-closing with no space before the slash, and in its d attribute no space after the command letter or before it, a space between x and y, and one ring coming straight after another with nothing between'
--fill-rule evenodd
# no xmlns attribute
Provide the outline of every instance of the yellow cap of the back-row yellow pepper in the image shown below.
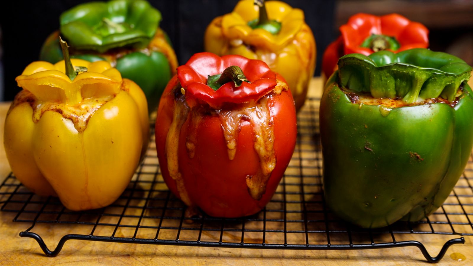
<svg viewBox="0 0 473 266"><path fill-rule="evenodd" d="M230 40L242 40L245 44L262 46L273 52L285 47L304 25L304 12L281 1L267 1L265 4L269 19L281 23L278 34L248 26L248 22L258 18L259 14L253 0L240 0L232 13L222 17L222 34Z"/></svg>

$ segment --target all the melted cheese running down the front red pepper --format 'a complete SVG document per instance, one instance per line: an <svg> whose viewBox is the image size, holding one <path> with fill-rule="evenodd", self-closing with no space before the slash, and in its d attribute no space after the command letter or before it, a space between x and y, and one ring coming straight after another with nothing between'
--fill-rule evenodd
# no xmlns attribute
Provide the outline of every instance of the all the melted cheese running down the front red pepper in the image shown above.
<svg viewBox="0 0 473 266"><path fill-rule="evenodd" d="M180 87L179 87L180 88ZM236 154L236 143L238 133L241 130L240 122L242 120L250 122L254 130L254 151L258 154L260 159L260 168L254 175L247 175L245 177L248 193L255 200L260 200L266 192L266 184L271 176L272 171L276 167L276 155L274 151L274 130L273 117L271 115L270 100L274 94L280 94L283 90L288 90L288 85L278 80L276 87L271 94L261 98L255 106L241 106L240 108L232 109L209 109L209 107L196 106L191 110L186 103L184 95L175 92L175 108L173 121L169 126L169 131L166 136L166 159L167 169L169 175L175 180L177 190L182 201L188 205L193 206L189 195L184 186L184 179L179 171L178 163L178 147L179 136L181 128L190 115L189 134L186 137L186 149L189 158L195 155L195 143L198 137L199 124L204 115L218 115L222 124L223 135L227 142L228 159L233 160ZM190 209L189 209L190 210ZM188 215L191 215L191 211Z"/></svg>

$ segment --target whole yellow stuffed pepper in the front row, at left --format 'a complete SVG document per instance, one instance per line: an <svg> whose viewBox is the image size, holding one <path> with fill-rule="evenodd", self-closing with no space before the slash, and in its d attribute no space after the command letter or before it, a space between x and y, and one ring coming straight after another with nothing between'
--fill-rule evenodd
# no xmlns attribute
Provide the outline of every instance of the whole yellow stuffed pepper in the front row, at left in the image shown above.
<svg viewBox="0 0 473 266"><path fill-rule="evenodd" d="M110 63L68 57L17 77L4 145L24 186L79 211L113 203L129 184L149 139L148 106Z"/></svg>

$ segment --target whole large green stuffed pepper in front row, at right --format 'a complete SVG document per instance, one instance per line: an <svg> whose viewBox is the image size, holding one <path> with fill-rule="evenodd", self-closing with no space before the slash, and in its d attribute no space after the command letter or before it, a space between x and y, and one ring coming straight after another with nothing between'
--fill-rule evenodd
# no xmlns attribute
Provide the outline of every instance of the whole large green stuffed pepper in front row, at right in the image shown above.
<svg viewBox="0 0 473 266"><path fill-rule="evenodd" d="M420 48L348 54L338 67L320 105L330 209L364 228L430 215L472 150L472 68Z"/></svg>

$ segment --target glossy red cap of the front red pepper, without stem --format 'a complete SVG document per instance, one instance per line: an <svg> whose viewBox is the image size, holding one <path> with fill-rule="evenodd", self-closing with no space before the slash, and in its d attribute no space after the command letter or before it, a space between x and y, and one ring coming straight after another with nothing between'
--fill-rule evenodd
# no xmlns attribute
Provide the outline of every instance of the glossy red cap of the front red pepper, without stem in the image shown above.
<svg viewBox="0 0 473 266"><path fill-rule="evenodd" d="M213 90L207 85L207 77L222 73L230 66L241 68L250 82L243 82L236 87L234 82L227 82ZM185 89L186 99L195 98L205 101L210 106L223 103L256 102L276 87L276 73L260 60L251 60L240 55L214 53L196 53L185 65L177 68L177 78Z"/></svg>

